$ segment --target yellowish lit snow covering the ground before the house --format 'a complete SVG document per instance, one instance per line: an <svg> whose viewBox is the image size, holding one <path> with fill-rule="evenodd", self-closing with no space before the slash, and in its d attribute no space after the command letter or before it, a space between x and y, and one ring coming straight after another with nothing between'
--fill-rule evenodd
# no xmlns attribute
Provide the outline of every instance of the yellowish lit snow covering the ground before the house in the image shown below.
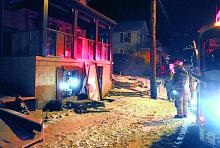
<svg viewBox="0 0 220 148"><path fill-rule="evenodd" d="M131 84L132 90L136 87L134 77L115 76L114 79ZM107 96L106 99L115 101L104 101L105 107L96 112L63 111L65 117L45 124L45 140L37 147L150 147L161 136L173 134L184 122L173 119L176 109L167 100L153 100L146 95Z"/></svg>

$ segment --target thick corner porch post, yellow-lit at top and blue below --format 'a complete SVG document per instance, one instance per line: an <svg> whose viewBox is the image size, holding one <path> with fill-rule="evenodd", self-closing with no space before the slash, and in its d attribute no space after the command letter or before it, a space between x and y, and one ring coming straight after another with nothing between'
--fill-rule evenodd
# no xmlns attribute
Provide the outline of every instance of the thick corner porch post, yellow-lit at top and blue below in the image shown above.
<svg viewBox="0 0 220 148"><path fill-rule="evenodd" d="M47 56L47 22L48 22L48 1L42 0L42 10L41 10L41 49L40 55Z"/></svg>

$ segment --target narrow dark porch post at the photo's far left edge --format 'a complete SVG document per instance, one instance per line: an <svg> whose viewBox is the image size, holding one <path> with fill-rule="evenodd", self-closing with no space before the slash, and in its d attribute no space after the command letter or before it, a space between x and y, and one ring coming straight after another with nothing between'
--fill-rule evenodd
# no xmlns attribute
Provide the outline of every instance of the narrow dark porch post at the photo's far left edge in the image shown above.
<svg viewBox="0 0 220 148"><path fill-rule="evenodd" d="M0 4L0 56L3 56L4 0Z"/></svg>

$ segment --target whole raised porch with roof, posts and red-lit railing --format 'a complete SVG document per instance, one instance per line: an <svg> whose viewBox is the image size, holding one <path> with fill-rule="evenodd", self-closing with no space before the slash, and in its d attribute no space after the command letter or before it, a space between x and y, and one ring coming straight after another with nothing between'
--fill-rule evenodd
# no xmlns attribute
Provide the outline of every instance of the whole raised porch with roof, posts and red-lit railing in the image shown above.
<svg viewBox="0 0 220 148"><path fill-rule="evenodd" d="M1 56L112 61L116 23L88 6L69 0L10 0L7 4Z"/></svg>

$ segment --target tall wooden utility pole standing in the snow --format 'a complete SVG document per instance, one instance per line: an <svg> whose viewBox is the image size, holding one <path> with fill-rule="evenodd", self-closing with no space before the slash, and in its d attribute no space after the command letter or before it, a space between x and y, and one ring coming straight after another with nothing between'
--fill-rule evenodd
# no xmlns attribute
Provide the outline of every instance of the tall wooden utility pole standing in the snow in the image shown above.
<svg viewBox="0 0 220 148"><path fill-rule="evenodd" d="M151 98L157 99L156 86L156 6L157 0L151 0L151 49L150 49L150 89Z"/></svg>

